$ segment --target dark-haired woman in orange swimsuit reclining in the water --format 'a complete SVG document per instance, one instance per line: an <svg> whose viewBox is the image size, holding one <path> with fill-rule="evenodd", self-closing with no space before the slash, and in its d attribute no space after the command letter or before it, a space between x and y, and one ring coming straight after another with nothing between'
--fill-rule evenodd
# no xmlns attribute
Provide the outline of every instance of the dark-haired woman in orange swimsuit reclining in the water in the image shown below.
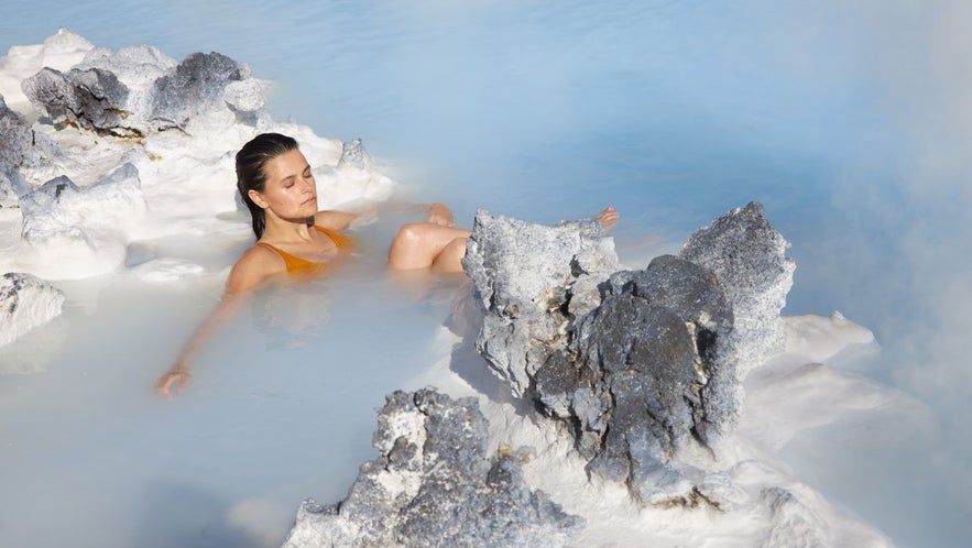
<svg viewBox="0 0 972 548"><path fill-rule="evenodd" d="M297 142L263 133L237 153L237 188L250 210L256 243L230 271L217 308L193 333L176 364L156 383L160 395L172 397L189 381L189 359L214 327L229 317L240 298L273 281L316 276L332 267L354 246L345 234L358 215L318 211L317 186ZM613 208L598 215L610 229L619 218ZM428 206L425 221L398 229L389 249L389 268L461 272L470 231L452 226L441 204Z"/></svg>

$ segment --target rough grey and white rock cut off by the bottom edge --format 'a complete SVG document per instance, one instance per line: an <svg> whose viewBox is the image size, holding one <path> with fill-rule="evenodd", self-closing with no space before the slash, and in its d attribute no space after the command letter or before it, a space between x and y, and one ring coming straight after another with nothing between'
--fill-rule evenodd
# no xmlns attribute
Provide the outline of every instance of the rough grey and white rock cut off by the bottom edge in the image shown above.
<svg viewBox="0 0 972 548"><path fill-rule="evenodd" d="M560 547L583 526L523 481L524 452L487 454L474 398L422 390L387 396L348 497L305 501L284 546Z"/></svg>

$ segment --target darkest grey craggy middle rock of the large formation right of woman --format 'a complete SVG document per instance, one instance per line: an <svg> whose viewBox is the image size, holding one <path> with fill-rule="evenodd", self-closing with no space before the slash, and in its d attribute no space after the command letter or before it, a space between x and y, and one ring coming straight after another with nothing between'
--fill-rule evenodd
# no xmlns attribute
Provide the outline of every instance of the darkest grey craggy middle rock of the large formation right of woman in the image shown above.
<svg viewBox="0 0 972 548"><path fill-rule="evenodd" d="M571 412L564 418L590 471L642 503L692 504L706 474L680 454L711 448L739 418L732 308L710 271L671 255L615 273L604 288L564 359L580 373L561 396ZM540 401L551 364L537 374Z"/></svg>

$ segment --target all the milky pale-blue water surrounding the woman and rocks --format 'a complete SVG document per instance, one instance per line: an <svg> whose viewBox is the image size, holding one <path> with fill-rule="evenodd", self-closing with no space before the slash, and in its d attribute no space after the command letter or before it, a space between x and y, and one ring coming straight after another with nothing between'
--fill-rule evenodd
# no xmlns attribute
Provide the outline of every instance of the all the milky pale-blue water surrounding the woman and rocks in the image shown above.
<svg viewBox="0 0 972 548"><path fill-rule="evenodd" d="M795 438L794 476L896 546L929 547L972 538L970 24L960 0L13 0L0 54L59 26L111 50L226 54L273 80L275 119L362 138L403 196L460 222L614 205L631 267L762 201L797 264L784 315L871 329L880 349L828 365L888 396ZM372 456L372 409L448 353L458 283L386 278L395 220L367 228L356 268L252 299L172 404L152 383L245 230L152 242L209 268L179 282L55 281L64 316L0 348L4 371L41 364L0 375L0 544L274 546L302 498L343 497Z"/></svg>

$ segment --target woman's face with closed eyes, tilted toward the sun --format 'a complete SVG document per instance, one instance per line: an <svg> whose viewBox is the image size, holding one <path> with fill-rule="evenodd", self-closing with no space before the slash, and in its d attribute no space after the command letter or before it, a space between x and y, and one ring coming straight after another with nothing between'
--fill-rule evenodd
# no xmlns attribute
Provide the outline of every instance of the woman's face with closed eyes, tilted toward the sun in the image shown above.
<svg viewBox="0 0 972 548"><path fill-rule="evenodd" d="M250 198L258 206L286 220L303 220L317 213L317 185L301 151L276 156L263 169L263 191L250 190Z"/></svg>

